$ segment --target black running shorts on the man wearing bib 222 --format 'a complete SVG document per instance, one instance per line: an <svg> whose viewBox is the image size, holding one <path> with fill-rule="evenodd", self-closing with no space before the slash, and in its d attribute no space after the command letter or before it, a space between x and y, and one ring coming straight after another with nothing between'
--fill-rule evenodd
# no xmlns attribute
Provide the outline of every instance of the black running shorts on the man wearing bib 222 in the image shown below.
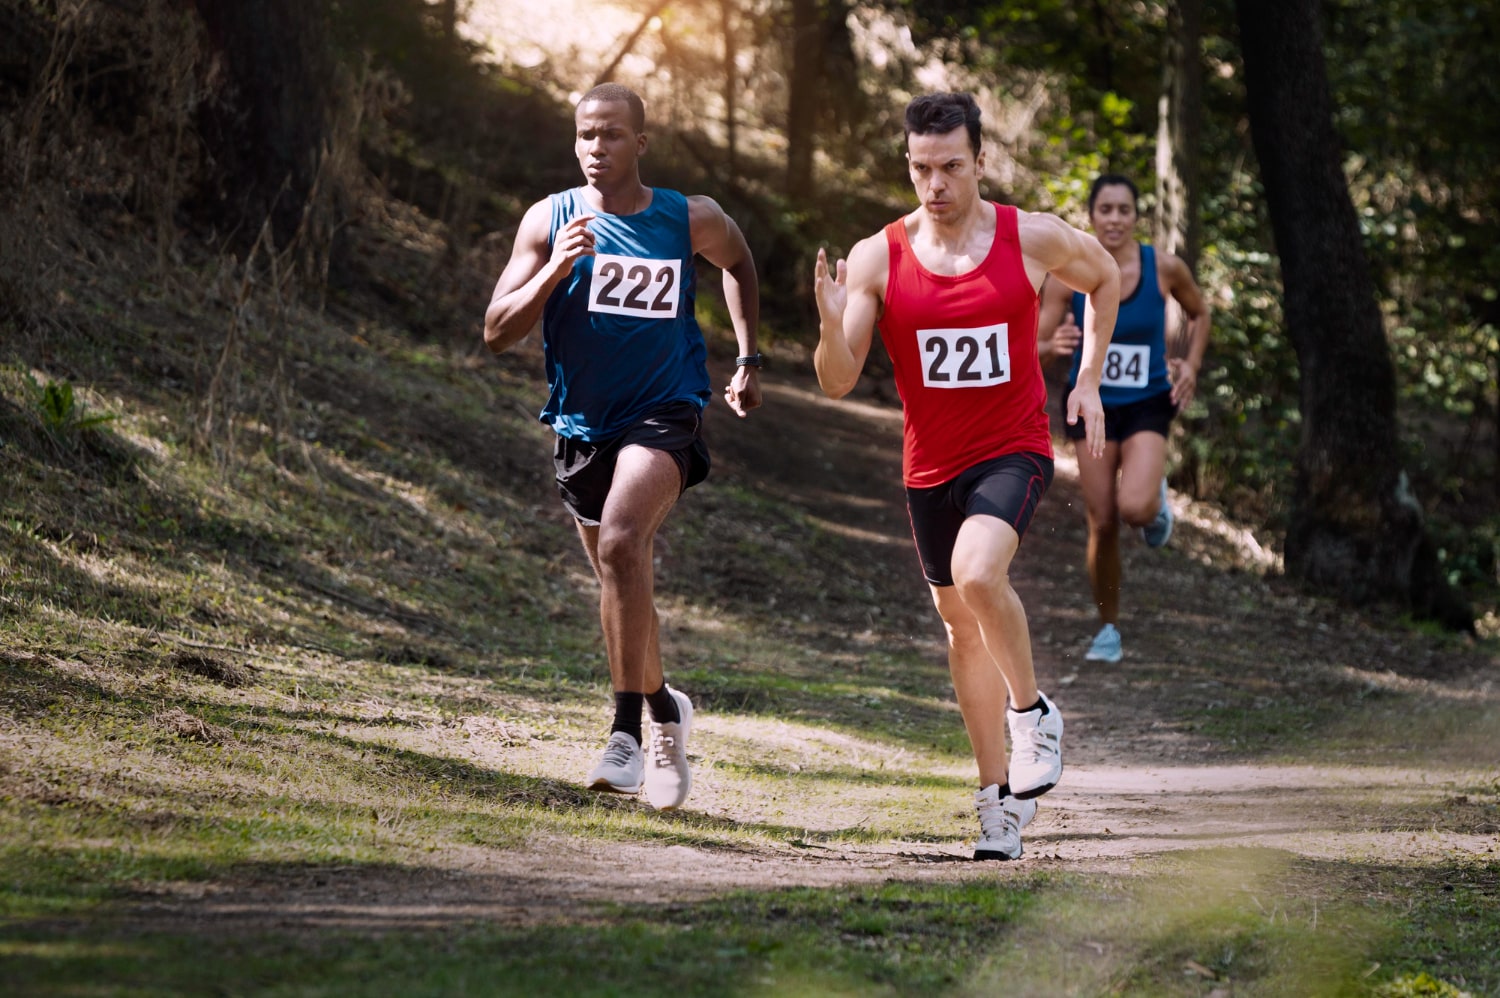
<svg viewBox="0 0 1500 998"><path fill-rule="evenodd" d="M604 515L609 486L615 480L620 450L630 444L672 455L682 474L682 491L693 488L708 477L708 446L702 434L704 411L698 405L669 402L651 410L610 440L558 437L552 447L552 467L562 504L578 521L597 527Z"/></svg>

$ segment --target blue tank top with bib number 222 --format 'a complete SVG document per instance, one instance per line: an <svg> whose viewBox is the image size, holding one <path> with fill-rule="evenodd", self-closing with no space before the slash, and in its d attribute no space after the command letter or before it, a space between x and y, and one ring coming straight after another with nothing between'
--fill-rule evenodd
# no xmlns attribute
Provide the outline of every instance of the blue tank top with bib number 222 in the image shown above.
<svg viewBox="0 0 1500 998"><path fill-rule="evenodd" d="M687 198L654 188L636 215L596 212L582 188L549 201L549 248L572 219L596 218L594 255L573 264L542 314L550 389L542 422L561 437L609 440L668 402L706 405Z"/></svg>

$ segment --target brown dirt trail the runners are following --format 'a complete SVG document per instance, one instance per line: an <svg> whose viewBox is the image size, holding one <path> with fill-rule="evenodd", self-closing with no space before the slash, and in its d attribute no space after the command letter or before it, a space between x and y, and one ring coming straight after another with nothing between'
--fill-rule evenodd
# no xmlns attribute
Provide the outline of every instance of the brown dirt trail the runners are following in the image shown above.
<svg viewBox="0 0 1500 998"><path fill-rule="evenodd" d="M860 522L850 528L906 534L896 477L898 410L868 386L854 402L828 402L806 374L776 371L766 387L766 407L744 426L730 425L734 417L716 404L716 474L777 488L830 519L848 518L848 497L861 497ZM816 444L807 443L810 425L819 428ZM1180 720L1184 705L1254 707L1287 684L1317 696L1362 677L1371 689L1494 702L1500 683L1494 662L1478 651L1437 651L1432 641L1278 591L1246 570L1270 560L1252 537L1180 495L1173 504L1179 524L1170 552L1125 543L1125 660L1084 663L1095 623L1082 564L1083 515L1076 468L1059 452L1054 485L1016 570L1040 683L1068 722L1068 768L1026 830L1028 867L1128 869L1137 857L1206 846L1272 846L1322 858L1500 851L1500 828L1482 815L1466 821L1461 788L1442 771L1419 768L1419 759L1404 768L1356 765L1358 756L1338 767L1256 764L1242 747L1215 743ZM930 626L936 630L936 617ZM704 716L699 723L711 732L717 722ZM1486 764L1456 753L1458 762L1500 767L1496 758ZM699 780L688 807L735 810L717 797L711 777ZM1430 818L1438 813L1443 821ZM380 930L472 918L530 924L596 917L591 903L600 900L688 902L741 887L992 876L996 869L969 861L962 843L724 851L548 839L522 849L440 851L416 869L280 869L236 884L183 884L122 914L159 927L216 930Z"/></svg>

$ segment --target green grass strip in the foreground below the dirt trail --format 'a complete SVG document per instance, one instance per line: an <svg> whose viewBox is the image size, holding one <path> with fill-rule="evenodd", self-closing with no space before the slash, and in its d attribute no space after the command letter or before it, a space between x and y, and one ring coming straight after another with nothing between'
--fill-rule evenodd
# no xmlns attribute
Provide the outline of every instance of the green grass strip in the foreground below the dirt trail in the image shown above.
<svg viewBox="0 0 1500 998"><path fill-rule="evenodd" d="M1500 926L1494 867L1474 875L1482 882L1446 899L1398 890L1352 902L1334 896L1394 887L1410 870L1216 851L1130 876L1012 866L948 882L596 905L526 929L456 918L408 930L363 905L345 912L363 930L216 932L207 963L207 927L122 930L117 911L94 906L72 911L66 929L12 920L0 953L24 993L1482 995L1497 983L1484 941ZM1454 920L1461 942L1442 926Z"/></svg>

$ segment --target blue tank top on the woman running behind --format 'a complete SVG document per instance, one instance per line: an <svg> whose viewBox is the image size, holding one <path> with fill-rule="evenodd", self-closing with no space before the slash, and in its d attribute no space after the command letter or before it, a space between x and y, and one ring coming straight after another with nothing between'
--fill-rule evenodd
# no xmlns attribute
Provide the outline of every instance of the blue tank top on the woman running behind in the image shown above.
<svg viewBox="0 0 1500 998"><path fill-rule="evenodd" d="M1083 296L1072 293L1072 321L1083 327ZM1083 351L1072 354L1068 389L1078 383ZM1156 251L1140 248L1140 281L1128 299L1120 300L1110 351L1100 377L1100 402L1107 407L1130 405L1172 390L1167 380L1167 299L1156 278Z"/></svg>

